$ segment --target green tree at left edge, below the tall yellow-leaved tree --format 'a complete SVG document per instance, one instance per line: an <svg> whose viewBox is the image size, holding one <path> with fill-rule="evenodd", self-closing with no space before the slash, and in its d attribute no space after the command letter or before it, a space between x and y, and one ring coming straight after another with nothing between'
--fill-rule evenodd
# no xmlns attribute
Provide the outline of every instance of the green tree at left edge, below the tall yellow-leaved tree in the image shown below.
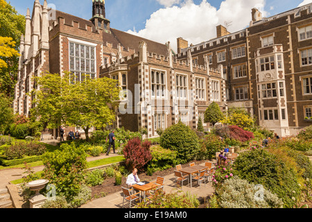
<svg viewBox="0 0 312 222"><path fill-rule="evenodd" d="M0 133L10 125L13 119L13 109L10 99L0 93Z"/></svg>

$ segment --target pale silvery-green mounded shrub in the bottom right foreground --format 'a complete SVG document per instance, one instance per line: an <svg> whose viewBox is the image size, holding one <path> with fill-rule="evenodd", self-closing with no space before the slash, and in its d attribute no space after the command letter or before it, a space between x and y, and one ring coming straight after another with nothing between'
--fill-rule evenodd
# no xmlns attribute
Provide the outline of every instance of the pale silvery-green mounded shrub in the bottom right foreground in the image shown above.
<svg viewBox="0 0 312 222"><path fill-rule="evenodd" d="M262 194L259 192L263 191ZM234 176L225 180L218 189L218 205L221 208L280 208L283 202L276 194L257 189L253 183Z"/></svg>

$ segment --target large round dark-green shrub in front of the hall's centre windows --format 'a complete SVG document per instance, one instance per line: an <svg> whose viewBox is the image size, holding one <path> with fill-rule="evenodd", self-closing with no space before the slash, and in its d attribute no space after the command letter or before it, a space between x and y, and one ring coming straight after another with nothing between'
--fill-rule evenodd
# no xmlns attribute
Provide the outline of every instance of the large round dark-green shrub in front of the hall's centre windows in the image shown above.
<svg viewBox="0 0 312 222"><path fill-rule="evenodd" d="M164 131L162 137L160 137L160 145L171 151L177 151L177 162L181 164L194 160L200 151L199 139L196 133L181 121Z"/></svg>

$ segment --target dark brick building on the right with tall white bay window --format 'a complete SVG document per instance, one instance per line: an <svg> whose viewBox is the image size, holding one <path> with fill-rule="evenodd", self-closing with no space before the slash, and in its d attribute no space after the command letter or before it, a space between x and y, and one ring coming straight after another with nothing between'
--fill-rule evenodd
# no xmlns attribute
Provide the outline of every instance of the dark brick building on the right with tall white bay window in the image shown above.
<svg viewBox="0 0 312 222"><path fill-rule="evenodd" d="M236 33L217 27L217 37L189 46L177 39L177 59L223 65L229 107L243 107L260 126L295 135L311 125L312 4L263 18L252 9L250 26Z"/></svg>

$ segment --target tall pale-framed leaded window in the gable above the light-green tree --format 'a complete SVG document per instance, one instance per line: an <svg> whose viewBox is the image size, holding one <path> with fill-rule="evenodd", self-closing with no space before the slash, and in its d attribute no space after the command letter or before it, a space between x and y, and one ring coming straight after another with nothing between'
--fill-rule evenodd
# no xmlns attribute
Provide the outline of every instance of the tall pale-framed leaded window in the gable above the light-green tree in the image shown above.
<svg viewBox="0 0 312 222"><path fill-rule="evenodd" d="M69 43L69 69L75 75L74 81L96 78L96 48L78 43ZM85 76L83 75L85 74Z"/></svg>

